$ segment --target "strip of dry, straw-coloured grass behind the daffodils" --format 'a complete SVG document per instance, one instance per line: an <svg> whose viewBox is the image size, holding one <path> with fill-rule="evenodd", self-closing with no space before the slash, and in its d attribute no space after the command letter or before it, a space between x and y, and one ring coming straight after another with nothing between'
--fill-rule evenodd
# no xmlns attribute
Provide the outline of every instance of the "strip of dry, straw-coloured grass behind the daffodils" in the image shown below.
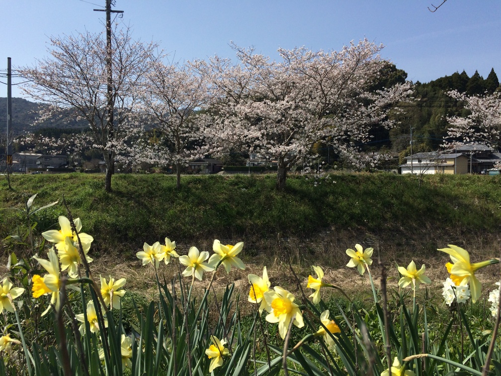
<svg viewBox="0 0 501 376"><path fill-rule="evenodd" d="M249 314L253 312L256 307L254 304L247 301L248 295L248 274L262 275L263 266L267 266L268 275L272 286L281 286L291 292L301 294L298 288L297 280L290 270L289 261L292 263L295 273L301 280L301 284L305 293L309 295L310 289L305 286L308 281L308 275L312 274L311 265L320 265L324 269L324 280L339 286L347 294L360 292L361 290L370 289L369 279L366 275L360 276L354 269L347 268L345 265L349 258L345 251L347 248L354 248L357 242L353 240L355 233L346 232L344 234L332 232L325 232L321 239L300 240L300 239L278 239L275 242L267 242L266 244L258 245L258 247L247 250L244 248L241 256L245 263L245 270L232 269L229 274L226 274L224 269L220 268L216 272L214 280L215 294L219 298L224 291L224 288L234 283L235 296L239 295L239 306L241 314ZM386 265L388 270L388 284L390 287L397 288L398 272L397 265L406 267L411 260L414 260L417 267L421 264L426 266L426 275L428 275L433 284L429 286L432 293L440 295L442 282L447 278L448 274L444 264L448 261L447 255L436 251L429 250L429 243L425 245L410 244L409 247L402 247L401 245L394 244L394 238L389 236L376 236L374 234L366 234L360 243L364 247L372 246L375 249L373 259L374 264L371 268L376 285L379 283L380 268L378 267L377 259ZM496 252L493 251L494 247L498 247L494 239L481 239L480 242L475 241L474 238L462 238L455 244L464 247L470 252L472 262L484 260L490 257L498 257ZM393 243L390 243L393 240ZM442 241L436 238L430 241L431 244L436 244ZM226 240L225 240L226 242ZM227 241L228 243L234 243ZM469 242L470 244L464 244ZM442 241L441 247L446 247L447 241ZM246 246L247 247L247 246ZM264 248L268 248L264 251ZM179 246L176 250L179 254L186 254L189 247ZM211 243L207 242L198 247L199 250L210 251ZM250 248L250 247L249 247ZM256 252L259 249L259 252ZM158 288L156 285L156 277L154 269L151 265L142 266L139 260L125 260L117 262L118 257L115 255L108 255L106 257L97 258L91 265L92 271L95 276L113 276L114 278L127 278L127 289L144 295L147 299L158 299ZM159 278L170 281L172 278L176 279L180 270L176 265L177 262L169 263L169 265L161 266L158 270ZM210 274L207 274L202 281L195 280L194 294L195 296L203 295L204 289L208 284ZM484 284L482 289L483 293L487 293L487 289L499 280L499 268L489 267L477 273L478 278ZM108 278L108 277L107 277ZM187 284L190 283L186 279ZM170 286L170 285L169 285ZM179 286L179 283L176 283ZM328 298L329 294L338 294L335 290L323 292L323 297ZM213 292L210 294L209 304L216 303L213 301Z"/></svg>

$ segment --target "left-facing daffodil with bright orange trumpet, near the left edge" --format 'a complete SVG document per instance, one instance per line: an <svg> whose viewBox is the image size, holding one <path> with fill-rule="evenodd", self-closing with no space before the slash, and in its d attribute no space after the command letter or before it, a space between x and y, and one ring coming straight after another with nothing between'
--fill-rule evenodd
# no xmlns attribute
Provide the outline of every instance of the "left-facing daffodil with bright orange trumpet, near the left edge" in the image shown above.
<svg viewBox="0 0 501 376"><path fill-rule="evenodd" d="M40 257L33 256L33 258L47 271L47 274L43 277L38 274L33 276L32 293L34 298L39 298L45 294L52 294L51 304L55 304L56 309L59 309L59 287L61 281L59 279L59 261L54 248L49 250L48 257L49 260L44 260ZM49 309L50 306L42 313L42 316L49 312Z"/></svg>

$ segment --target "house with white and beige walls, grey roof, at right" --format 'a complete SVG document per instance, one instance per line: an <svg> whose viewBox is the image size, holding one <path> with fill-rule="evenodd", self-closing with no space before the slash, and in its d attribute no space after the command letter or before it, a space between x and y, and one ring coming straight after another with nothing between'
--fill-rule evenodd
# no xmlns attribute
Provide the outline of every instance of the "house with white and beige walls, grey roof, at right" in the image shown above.
<svg viewBox="0 0 501 376"><path fill-rule="evenodd" d="M400 171L415 174L456 174L468 173L469 160L462 153L416 153L407 157L404 164L399 165Z"/></svg>

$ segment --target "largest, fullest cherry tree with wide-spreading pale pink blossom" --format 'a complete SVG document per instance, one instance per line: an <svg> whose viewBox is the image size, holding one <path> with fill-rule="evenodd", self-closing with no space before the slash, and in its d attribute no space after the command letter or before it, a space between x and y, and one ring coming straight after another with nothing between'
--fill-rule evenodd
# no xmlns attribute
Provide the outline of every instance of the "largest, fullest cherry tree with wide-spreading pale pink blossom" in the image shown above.
<svg viewBox="0 0 501 376"><path fill-rule="evenodd" d="M217 56L194 63L212 90L206 135L222 148L276 161L279 190L315 142L348 152L368 140L372 125L390 126L393 104L411 93L409 83L369 91L388 62L378 55L382 46L367 40L331 52L279 49L280 62L233 48L237 64Z"/></svg>

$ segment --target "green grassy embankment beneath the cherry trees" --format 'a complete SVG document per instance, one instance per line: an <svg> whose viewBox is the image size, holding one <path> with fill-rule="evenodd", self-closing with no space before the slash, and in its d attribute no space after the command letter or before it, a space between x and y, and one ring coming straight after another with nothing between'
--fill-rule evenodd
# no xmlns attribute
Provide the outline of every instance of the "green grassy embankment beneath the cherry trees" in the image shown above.
<svg viewBox="0 0 501 376"><path fill-rule="evenodd" d="M0 205L21 207L35 193L36 206L64 196L98 252L126 256L165 237L184 244L241 239L261 247L288 237L315 239L328 230L373 234L397 248L418 241L433 249L436 234L464 242L501 229L499 176L430 175L421 187L415 177L394 174L338 174L332 180L314 186L293 175L278 192L274 175L186 176L178 191L174 176L117 174L108 194L103 175L14 175L13 191L0 180ZM39 231L56 228L64 214L62 205L41 213ZM21 222L1 211L2 238Z"/></svg>

